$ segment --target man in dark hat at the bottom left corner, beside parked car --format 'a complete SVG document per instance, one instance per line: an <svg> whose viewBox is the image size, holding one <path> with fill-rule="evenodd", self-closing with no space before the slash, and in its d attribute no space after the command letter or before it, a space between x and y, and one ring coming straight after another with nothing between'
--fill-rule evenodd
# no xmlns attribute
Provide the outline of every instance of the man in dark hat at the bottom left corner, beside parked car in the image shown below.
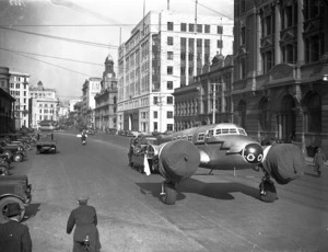
<svg viewBox="0 0 328 252"><path fill-rule="evenodd" d="M28 227L20 222L19 203L7 205L5 219L0 224L0 250L3 252L32 252Z"/></svg>

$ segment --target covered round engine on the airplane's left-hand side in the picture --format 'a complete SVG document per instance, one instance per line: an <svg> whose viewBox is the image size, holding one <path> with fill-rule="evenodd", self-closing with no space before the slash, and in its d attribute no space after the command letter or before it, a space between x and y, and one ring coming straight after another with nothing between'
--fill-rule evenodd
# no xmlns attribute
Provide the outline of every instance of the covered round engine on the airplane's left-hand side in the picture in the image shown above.
<svg viewBox="0 0 328 252"><path fill-rule="evenodd" d="M159 148L159 171L171 182L177 183L190 177L199 164L199 150L190 141L168 141Z"/></svg>

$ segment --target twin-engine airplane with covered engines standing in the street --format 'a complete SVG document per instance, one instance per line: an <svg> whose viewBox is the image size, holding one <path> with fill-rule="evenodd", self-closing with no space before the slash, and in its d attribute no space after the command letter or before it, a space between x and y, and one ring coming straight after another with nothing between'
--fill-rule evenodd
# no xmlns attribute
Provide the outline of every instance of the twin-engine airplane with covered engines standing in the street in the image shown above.
<svg viewBox="0 0 328 252"><path fill-rule="evenodd" d="M149 162L151 161L151 162ZM177 186L192 176L197 169L262 171L259 198L272 203L277 191L271 177L279 184L288 184L300 177L306 162L302 150L292 144L261 146L247 136L244 128L232 123L212 124L162 134L156 141L144 147L144 167L165 179L161 201L173 205ZM210 172L210 173L211 173ZM150 172L147 172L150 174Z"/></svg>

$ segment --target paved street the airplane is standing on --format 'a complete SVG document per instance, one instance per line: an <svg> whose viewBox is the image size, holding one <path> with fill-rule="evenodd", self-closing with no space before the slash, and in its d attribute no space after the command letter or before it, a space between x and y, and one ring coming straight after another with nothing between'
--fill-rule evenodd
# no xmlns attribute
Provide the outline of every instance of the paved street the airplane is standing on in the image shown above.
<svg viewBox="0 0 328 252"><path fill-rule="evenodd" d="M156 174L127 165L129 139L96 135L81 146L72 134L57 133L59 153L28 153L14 174L27 174L33 202L24 220L34 252L71 251L66 234L80 193L98 214L102 251L328 251L328 169L278 185L273 204L258 201L261 174L199 169L180 184L173 206L159 201Z"/></svg>

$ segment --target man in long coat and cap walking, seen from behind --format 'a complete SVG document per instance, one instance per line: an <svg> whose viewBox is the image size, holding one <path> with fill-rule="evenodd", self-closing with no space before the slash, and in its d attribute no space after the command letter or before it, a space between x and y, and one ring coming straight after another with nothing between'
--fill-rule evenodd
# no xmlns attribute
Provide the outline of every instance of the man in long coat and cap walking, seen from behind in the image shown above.
<svg viewBox="0 0 328 252"><path fill-rule="evenodd" d="M101 249L99 234L96 228L97 214L93 206L87 205L89 197L78 198L79 207L73 209L67 221L67 233L70 234L75 226L73 234L73 252L85 251L84 241L89 240L90 252L98 252Z"/></svg>

